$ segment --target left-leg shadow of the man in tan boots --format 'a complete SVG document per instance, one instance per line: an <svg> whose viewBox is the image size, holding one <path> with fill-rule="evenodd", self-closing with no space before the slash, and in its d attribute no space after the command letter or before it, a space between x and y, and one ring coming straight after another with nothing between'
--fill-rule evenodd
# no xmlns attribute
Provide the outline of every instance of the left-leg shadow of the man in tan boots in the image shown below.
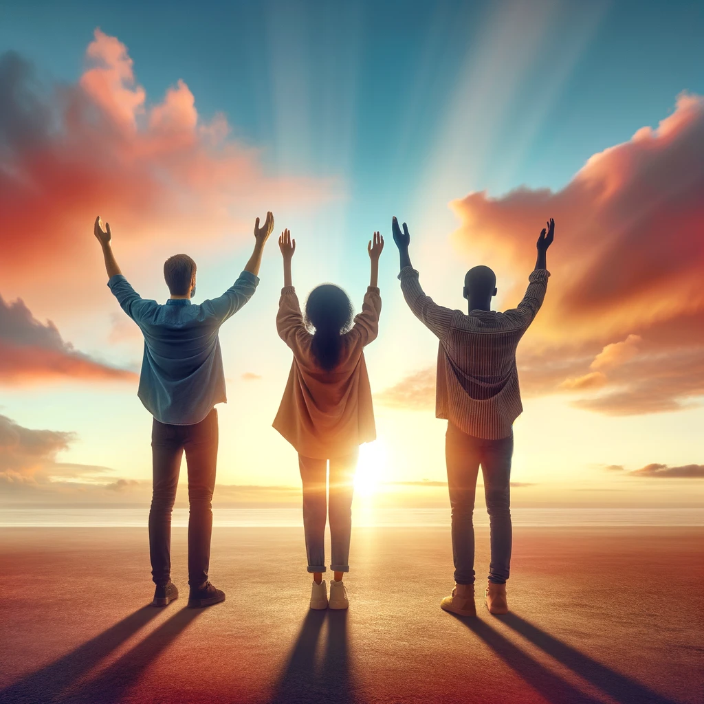
<svg viewBox="0 0 704 704"><path fill-rule="evenodd" d="M553 704L601 704L589 694L551 672L547 667L517 648L511 641L478 618L465 618L451 614L494 650L512 670Z"/></svg>

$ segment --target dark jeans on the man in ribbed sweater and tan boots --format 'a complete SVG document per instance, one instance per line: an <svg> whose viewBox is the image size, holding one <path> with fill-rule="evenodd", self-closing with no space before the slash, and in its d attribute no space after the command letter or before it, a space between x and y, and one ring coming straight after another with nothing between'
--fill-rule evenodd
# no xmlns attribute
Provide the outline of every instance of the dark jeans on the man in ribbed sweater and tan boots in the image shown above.
<svg viewBox="0 0 704 704"><path fill-rule="evenodd" d="M484 496L491 525L489 582L504 584L511 560L510 476L513 434L484 440L448 423L445 441L447 481L452 508L455 582L474 584L474 491L482 465Z"/></svg>

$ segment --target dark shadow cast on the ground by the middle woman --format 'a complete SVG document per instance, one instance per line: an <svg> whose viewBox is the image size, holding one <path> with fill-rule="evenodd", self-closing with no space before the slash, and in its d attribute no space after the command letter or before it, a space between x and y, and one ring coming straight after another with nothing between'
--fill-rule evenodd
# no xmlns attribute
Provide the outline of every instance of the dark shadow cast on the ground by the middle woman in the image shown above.
<svg viewBox="0 0 704 704"><path fill-rule="evenodd" d="M315 653L326 621L327 644L318 667ZM310 610L306 614L270 704L309 704L318 700L359 702L350 677L346 611Z"/></svg>

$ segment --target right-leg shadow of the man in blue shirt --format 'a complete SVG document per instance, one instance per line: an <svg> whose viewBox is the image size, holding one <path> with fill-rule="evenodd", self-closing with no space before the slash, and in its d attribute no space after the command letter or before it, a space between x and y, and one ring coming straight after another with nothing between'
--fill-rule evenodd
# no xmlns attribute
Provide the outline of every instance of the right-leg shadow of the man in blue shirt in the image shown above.
<svg viewBox="0 0 704 704"><path fill-rule="evenodd" d="M61 704L114 704L134 686L144 670L168 648L202 609L182 608L125 655L115 660L98 677L67 691L57 701Z"/></svg>

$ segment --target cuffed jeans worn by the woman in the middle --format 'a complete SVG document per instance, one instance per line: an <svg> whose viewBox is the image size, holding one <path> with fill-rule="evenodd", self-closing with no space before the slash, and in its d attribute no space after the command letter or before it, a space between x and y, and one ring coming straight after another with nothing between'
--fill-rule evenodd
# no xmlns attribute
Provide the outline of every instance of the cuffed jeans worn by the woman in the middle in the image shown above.
<svg viewBox="0 0 704 704"><path fill-rule="evenodd" d="M350 570L348 560L352 532L352 494L358 456L357 449L351 455L330 460L330 569L333 572ZM306 534L308 572L325 572L327 460L298 455L298 467L303 482L303 532Z"/></svg>

